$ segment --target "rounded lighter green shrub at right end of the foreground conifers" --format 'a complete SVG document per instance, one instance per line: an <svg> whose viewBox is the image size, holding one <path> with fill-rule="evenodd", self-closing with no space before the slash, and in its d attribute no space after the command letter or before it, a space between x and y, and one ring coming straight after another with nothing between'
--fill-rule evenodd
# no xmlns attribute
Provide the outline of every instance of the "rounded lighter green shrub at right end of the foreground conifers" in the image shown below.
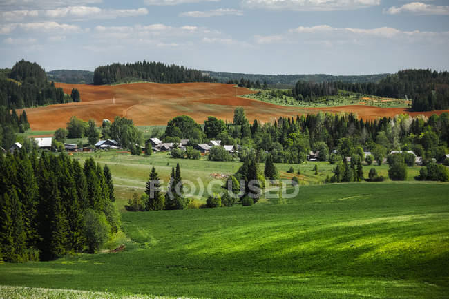
<svg viewBox="0 0 449 299"><path fill-rule="evenodd" d="M87 209L83 218L83 233L89 252L95 253L108 240L108 232L111 230L110 226L104 213L97 213L93 209Z"/></svg>

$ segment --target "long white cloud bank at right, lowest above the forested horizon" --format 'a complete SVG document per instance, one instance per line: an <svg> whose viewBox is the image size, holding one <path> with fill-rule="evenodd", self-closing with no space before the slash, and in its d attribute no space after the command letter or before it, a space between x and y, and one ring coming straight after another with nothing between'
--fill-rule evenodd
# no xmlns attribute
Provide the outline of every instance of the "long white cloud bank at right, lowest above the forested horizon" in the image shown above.
<svg viewBox="0 0 449 299"><path fill-rule="evenodd" d="M432 41L441 43L449 37L448 32L401 31L391 27L372 29L334 28L328 25L300 26L280 35L256 35L257 44L372 44L376 39L388 39L394 42Z"/></svg>

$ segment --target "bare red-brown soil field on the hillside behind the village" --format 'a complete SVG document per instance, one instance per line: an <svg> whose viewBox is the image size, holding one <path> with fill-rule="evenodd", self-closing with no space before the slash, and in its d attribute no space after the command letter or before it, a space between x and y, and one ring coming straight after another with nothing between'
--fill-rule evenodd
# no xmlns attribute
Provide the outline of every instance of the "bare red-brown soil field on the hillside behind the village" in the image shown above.
<svg viewBox="0 0 449 299"><path fill-rule="evenodd" d="M218 83L155 84L135 83L116 86L94 86L86 84L55 83L70 94L77 88L82 102L57 104L38 108L26 108L28 121L33 130L55 130L65 128L75 115L84 120L95 119L101 124L103 119L115 116L133 119L138 126L162 125L178 115L189 115L197 122L204 122L208 116L232 120L236 106L245 108L248 119L272 122L280 116L296 117L298 114L353 112L363 119L393 117L409 113L405 108L378 108L373 106L339 106L329 108L296 108L278 106L238 95L253 93L246 88ZM115 98L115 104L113 104ZM410 115L441 114L443 111L409 113Z"/></svg>

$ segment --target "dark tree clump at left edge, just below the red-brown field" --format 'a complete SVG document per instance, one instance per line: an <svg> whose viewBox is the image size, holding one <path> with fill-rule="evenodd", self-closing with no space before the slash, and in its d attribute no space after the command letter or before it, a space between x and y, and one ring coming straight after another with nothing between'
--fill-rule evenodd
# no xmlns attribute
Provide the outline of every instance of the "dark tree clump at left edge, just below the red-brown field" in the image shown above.
<svg viewBox="0 0 449 299"><path fill-rule="evenodd" d="M16 110L0 106L0 146L8 150L16 142L16 133L30 128L26 112L17 115Z"/></svg>

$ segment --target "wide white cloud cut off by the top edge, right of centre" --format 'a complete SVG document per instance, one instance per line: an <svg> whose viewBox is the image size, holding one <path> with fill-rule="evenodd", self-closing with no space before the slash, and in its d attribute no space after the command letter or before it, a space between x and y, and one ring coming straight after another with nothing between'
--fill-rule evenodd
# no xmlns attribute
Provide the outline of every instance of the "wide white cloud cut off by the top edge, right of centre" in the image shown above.
<svg viewBox="0 0 449 299"><path fill-rule="evenodd" d="M379 6L381 0L242 0L246 8L269 10L332 11Z"/></svg>

